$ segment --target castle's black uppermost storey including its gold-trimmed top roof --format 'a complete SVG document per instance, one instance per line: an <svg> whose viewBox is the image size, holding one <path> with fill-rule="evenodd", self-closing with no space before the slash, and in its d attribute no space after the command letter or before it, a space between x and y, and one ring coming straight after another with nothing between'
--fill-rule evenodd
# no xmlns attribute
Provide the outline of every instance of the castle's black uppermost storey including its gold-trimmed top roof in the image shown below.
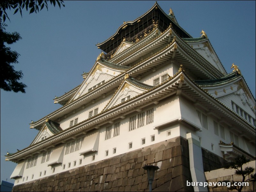
<svg viewBox="0 0 256 192"><path fill-rule="evenodd" d="M108 40L99 43L96 46L105 53L109 53L119 47L124 38L126 41L135 42L139 36L143 36L144 33L148 33L148 30L152 30L154 25L158 25L158 28L164 31L171 24L173 29L181 38L192 38L191 35L184 31L184 29L182 29L171 18L172 17L169 17L166 13L164 13L160 6L155 3L154 6L144 15L140 16L134 21L125 22ZM143 32L143 34L140 34L141 32Z"/></svg>

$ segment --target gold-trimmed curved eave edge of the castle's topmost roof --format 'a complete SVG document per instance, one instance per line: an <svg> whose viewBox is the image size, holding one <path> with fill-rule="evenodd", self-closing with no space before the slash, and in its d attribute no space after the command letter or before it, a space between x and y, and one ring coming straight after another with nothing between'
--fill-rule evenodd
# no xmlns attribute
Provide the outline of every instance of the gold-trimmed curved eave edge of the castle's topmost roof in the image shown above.
<svg viewBox="0 0 256 192"><path fill-rule="evenodd" d="M156 7L157 7L157 8L156 8ZM140 16L139 18L137 18L137 19L135 19L135 20L133 20L133 21L125 22L123 25L121 25L121 26L117 29L117 32L116 32L114 35L112 35L112 36L111 36L109 39L107 39L106 41L103 41L102 43L96 44L96 46L97 46L98 48L101 48L102 45L104 45L104 44L107 43L108 41L111 41L112 38L115 38L115 36L118 35L118 33L120 33L120 31L121 31L123 28L125 28L124 26L126 26L126 25L132 25L132 24L138 22L140 19L143 19L144 16L146 16L147 14L149 14L151 11L154 11L154 9L160 10L160 11L166 16L166 18L168 18L168 19L171 21L172 24L176 25L176 26L177 26L180 30L182 30L187 36L189 36L189 37L192 38L192 36L191 36L190 34L188 34L182 27L180 27L177 22L174 22L174 21L162 10L162 8L161 8L161 7L157 4L157 2L156 2L156 3L153 5L153 7L152 7L151 9L149 9L145 14L143 14L142 16Z"/></svg>

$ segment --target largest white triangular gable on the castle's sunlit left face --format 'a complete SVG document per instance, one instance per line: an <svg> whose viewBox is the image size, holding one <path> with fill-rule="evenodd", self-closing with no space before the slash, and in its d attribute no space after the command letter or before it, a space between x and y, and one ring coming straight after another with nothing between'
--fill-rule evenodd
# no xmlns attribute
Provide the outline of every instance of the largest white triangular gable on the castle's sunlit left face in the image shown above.
<svg viewBox="0 0 256 192"><path fill-rule="evenodd" d="M85 95L88 92L93 91L97 87L120 75L121 73L124 73L126 68L128 69L128 67L118 66L114 63L108 63L105 60L97 61L70 102Z"/></svg>

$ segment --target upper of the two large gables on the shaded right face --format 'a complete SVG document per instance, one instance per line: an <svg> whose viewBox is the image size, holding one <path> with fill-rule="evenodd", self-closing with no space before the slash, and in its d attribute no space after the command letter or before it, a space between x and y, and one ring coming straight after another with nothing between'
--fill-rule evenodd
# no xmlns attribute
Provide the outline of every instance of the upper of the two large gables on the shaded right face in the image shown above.
<svg viewBox="0 0 256 192"><path fill-rule="evenodd" d="M184 39L196 52L198 52L209 63L215 66L223 74L226 74L218 56L216 55L210 41L203 38Z"/></svg>

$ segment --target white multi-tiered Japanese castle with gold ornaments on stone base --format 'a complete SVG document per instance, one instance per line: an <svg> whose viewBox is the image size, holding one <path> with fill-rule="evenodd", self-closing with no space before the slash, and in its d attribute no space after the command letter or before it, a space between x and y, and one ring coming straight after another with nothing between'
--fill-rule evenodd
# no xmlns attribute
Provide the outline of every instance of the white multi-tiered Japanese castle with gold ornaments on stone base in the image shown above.
<svg viewBox="0 0 256 192"><path fill-rule="evenodd" d="M225 70L207 37L193 38L155 3L96 46L101 54L60 108L30 128L14 191L207 191L238 155L255 160L255 99L236 63ZM201 34L200 34L201 32ZM201 36L200 36L201 35ZM143 168L144 167L144 168Z"/></svg>

